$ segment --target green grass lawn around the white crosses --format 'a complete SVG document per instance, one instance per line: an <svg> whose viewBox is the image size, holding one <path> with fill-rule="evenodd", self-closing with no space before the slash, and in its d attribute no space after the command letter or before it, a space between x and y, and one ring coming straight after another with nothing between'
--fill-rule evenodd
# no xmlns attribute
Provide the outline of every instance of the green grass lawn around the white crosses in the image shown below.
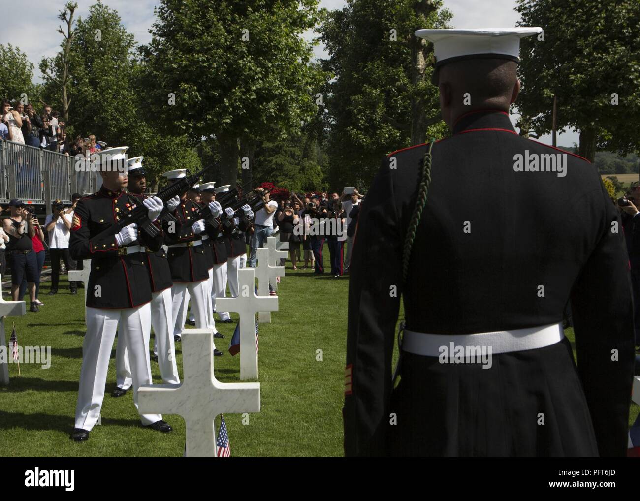
<svg viewBox="0 0 640 501"><path fill-rule="evenodd" d="M324 249L330 269L329 251ZM65 277L66 278L66 277ZM271 324L260 325L259 381L261 411L242 424L241 415L225 415L232 456L342 456L342 399L348 277L314 276L311 269L294 271L287 261L278 296L280 311ZM57 296L46 296L42 284L38 313L15 321L20 346L51 346L51 368L10 364L9 386L0 386L0 456L182 456L184 420L164 415L173 433L161 434L140 425L132 392L115 399L115 346L109 366L102 424L86 443L68 436L74 425L78 378L82 361L84 306L82 290L71 296L61 282ZM5 294L6 296L6 294ZM237 315L232 313L232 319ZM225 339L216 346L216 378L239 381L239 355L227 353L233 324L216 323ZM568 336L573 341L573 332ZM182 354L177 344L182 373ZM316 351L323 360L316 360ZM161 383L152 362L154 383ZM634 405L630 422L639 407Z"/></svg>

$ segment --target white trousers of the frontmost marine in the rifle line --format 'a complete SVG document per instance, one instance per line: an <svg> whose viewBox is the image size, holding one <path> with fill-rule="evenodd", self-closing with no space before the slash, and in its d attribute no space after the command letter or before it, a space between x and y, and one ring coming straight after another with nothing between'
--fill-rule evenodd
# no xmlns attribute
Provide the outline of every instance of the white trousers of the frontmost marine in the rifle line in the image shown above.
<svg viewBox="0 0 640 501"><path fill-rule="evenodd" d="M120 340L131 354L133 402L138 409L138 387L150 385L149 335L151 308L146 305L122 310L86 308L86 335L80 369L80 387L76 406L76 428L91 431L100 417L104 388L107 383L109 358L113 340L120 322ZM142 424L149 425L162 419L159 414L140 415Z"/></svg>

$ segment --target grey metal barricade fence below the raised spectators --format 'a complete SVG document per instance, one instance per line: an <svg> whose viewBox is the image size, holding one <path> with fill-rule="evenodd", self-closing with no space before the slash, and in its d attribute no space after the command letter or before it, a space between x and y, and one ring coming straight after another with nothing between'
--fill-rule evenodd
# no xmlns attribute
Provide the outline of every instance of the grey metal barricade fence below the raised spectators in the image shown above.
<svg viewBox="0 0 640 501"><path fill-rule="evenodd" d="M56 198L71 202L72 193L86 195L97 189L95 172L76 170L76 159L0 139L0 203L19 198L49 205Z"/></svg>

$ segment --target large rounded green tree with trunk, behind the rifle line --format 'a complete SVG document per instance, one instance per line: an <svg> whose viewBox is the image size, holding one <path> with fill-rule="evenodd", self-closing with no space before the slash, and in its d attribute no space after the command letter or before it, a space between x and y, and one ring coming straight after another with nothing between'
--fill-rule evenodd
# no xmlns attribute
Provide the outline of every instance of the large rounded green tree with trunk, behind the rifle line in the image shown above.
<svg viewBox="0 0 640 501"><path fill-rule="evenodd" d="M239 141L250 151L316 113L323 75L301 34L316 24L317 0L161 0L156 15L141 50L148 109L194 144L214 136L224 184L236 182Z"/></svg>

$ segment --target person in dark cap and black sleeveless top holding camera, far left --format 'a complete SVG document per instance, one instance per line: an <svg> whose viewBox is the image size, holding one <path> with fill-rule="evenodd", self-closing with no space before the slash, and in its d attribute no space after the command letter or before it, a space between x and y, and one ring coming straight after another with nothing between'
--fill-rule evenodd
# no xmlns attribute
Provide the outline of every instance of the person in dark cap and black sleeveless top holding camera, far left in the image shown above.
<svg viewBox="0 0 640 501"><path fill-rule="evenodd" d="M27 289L31 308L29 311L38 312L36 303L36 280L38 279L38 259L33 252L31 237L36 234L33 220L28 219L24 211L24 203L14 198L9 202L11 216L4 219L3 229L9 235L6 254L11 266L11 295L13 301L18 301L22 279L27 279Z"/></svg>

